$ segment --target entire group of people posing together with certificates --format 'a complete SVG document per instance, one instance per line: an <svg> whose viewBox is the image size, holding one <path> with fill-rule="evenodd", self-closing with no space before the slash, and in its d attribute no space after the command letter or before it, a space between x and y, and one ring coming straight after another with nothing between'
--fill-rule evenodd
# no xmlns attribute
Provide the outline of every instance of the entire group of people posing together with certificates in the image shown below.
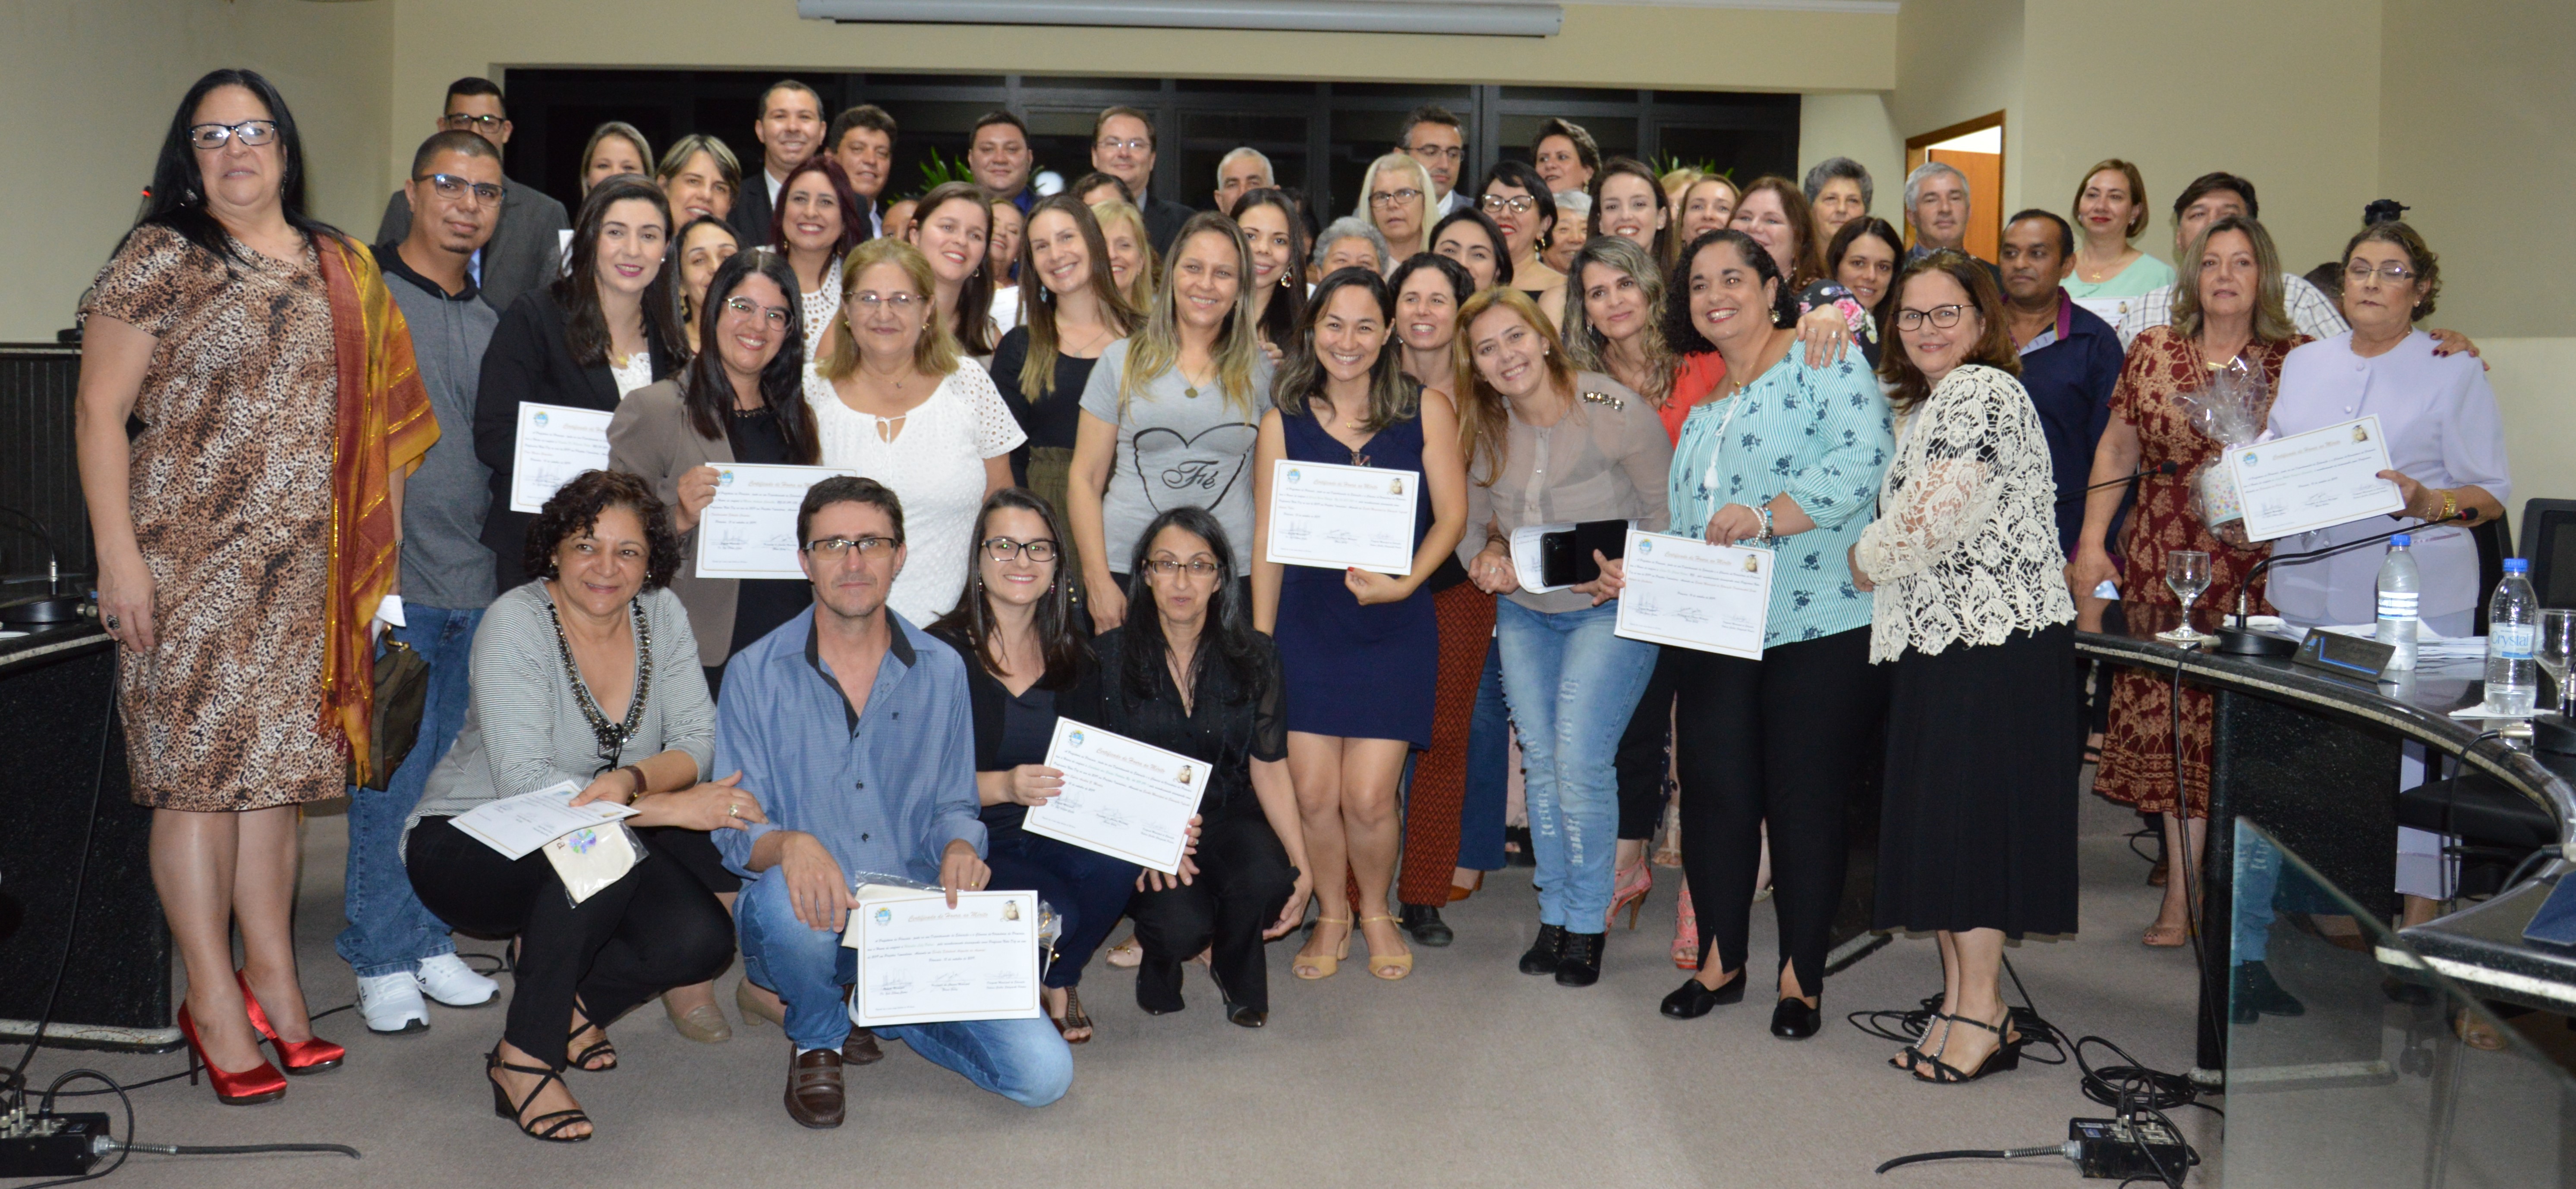
<svg viewBox="0 0 2576 1189"><path fill-rule="evenodd" d="M1512 736L1522 973L1600 978L1651 888L1669 764L1692 975L1662 1011L1744 999L1770 885L1770 1029L1814 1035L1844 806L1878 775L1873 926L1932 934L1945 975L1891 1063L1981 1078L2022 1045L2004 942L2076 926L2076 625L2172 605L2166 548L2221 558L2228 605L2264 556L2187 499L2218 445L2174 396L2251 371L2277 432L2367 404L2406 515L2506 497L2478 363L2414 329L2439 291L2421 237L2354 234L2336 311L2223 172L2174 201L2169 270L2133 247L2146 183L2117 160L2074 219L2004 221L1986 263L1947 165L1906 178L1909 242L1850 160L1656 175L1566 121L1468 188L1461 124L1422 108L1337 219L1252 149L1221 160L1216 211L1151 198L1154 126L1128 108L1064 193L1028 188L1028 129L994 113L974 183L884 208L884 111L824 121L778 82L752 131L757 185L716 136L654 162L605 126L567 221L502 172L500 88L459 80L368 250L307 214L268 80L219 69L180 100L85 306L80 463L180 1027L224 1101L343 1060L296 988L301 803L355 798L337 947L368 1029L500 996L451 929L515 939L489 1081L528 1135L590 1138L564 1073L616 1068L605 1027L647 999L726 1040L737 950L742 1019L791 1040L788 1114L832 1127L884 1037L1012 1101L1061 1096L1121 919L1108 960L1149 1014L1206 960L1226 1017L1265 1024L1265 942L1301 929L1296 978L1332 978L1352 934L1370 975L1406 978L1412 945L1453 937L1440 906L1504 862ZM520 404L611 414L608 466L538 512L513 510ZM1409 574L1267 561L1278 461L1419 474ZM732 463L855 474L804 497L804 579L693 574ZM1767 548L1762 656L1618 636L1615 556L1522 587L1517 530L1595 520ZM2473 556L2432 538L2424 618L2447 633ZM2367 618L2367 569L2272 602ZM420 741L353 790L394 643L428 661ZM2164 685L2097 685L2097 788L2172 813L2184 854L2208 703L2184 695L2177 746ZM1059 718L1208 764L1177 875L1023 829L1064 788ZM456 829L567 780L636 808L652 857L580 903L544 857ZM1048 1019L853 1027L837 934L863 872L1041 893ZM2184 926L2166 916L2151 945Z"/></svg>

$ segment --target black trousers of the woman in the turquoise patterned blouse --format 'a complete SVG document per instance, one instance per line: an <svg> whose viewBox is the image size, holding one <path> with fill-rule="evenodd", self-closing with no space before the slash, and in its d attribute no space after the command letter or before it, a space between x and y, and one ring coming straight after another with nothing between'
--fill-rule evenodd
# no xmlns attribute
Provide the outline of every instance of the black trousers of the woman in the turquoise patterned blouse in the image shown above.
<svg viewBox="0 0 2576 1189"><path fill-rule="evenodd" d="M1870 628L1780 643L1759 661L1664 649L1680 697L1682 875L1700 914L1700 952L1744 965L1762 824L1770 821L1780 965L1821 993L1842 901L1842 816L1870 764L1888 703L1888 667L1870 664ZM1710 957L1703 957L1703 970ZM1749 978L1749 975L1747 975Z"/></svg>

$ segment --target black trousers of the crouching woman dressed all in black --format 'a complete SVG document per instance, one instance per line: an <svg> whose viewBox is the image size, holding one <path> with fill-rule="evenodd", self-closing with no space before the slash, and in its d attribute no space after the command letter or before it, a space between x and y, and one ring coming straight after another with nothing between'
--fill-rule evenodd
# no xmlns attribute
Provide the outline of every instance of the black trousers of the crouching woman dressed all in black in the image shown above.
<svg viewBox="0 0 2576 1189"><path fill-rule="evenodd" d="M1136 970L1136 1006L1180 1011L1180 963L1200 950L1229 1004L1270 1011L1270 965L1262 929L1278 921L1296 890L1298 870L1257 806L1208 821L1198 834L1198 878L1185 888L1136 893L1128 916L1144 965ZM1321 896L1321 890L1319 890Z"/></svg>

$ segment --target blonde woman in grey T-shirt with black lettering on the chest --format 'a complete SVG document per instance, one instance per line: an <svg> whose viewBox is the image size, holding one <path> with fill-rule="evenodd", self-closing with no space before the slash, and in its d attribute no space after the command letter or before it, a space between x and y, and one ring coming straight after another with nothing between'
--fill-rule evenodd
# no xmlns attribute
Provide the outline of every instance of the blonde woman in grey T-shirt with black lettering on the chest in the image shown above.
<svg viewBox="0 0 2576 1189"><path fill-rule="evenodd" d="M1244 471L1270 409L1270 358L1249 281L1252 247L1234 219L1190 216L1144 327L1103 347L1082 386L1064 502L1100 631L1126 620L1128 574L1110 566L1139 553L1157 512L1206 507L1229 540L1252 540Z"/></svg>

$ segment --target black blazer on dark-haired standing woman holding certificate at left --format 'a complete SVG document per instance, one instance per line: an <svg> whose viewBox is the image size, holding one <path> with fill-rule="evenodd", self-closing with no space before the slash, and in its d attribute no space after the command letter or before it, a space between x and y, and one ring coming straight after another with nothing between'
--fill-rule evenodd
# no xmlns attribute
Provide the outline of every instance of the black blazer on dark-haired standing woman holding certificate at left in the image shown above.
<svg viewBox="0 0 2576 1189"><path fill-rule="evenodd" d="M644 342L652 353L652 378L670 378L680 358L662 342L662 332L644 319ZM574 409L616 412L618 378L608 363L590 368L572 363L572 340L564 324L564 306L554 304L554 286L536 286L520 293L492 329L484 347L484 368L474 391L474 458L492 468L492 512L484 515L484 548L492 551L492 576L500 589L528 582L520 564L528 546L528 512L510 512L510 468L518 453L518 404L567 404Z"/></svg>

